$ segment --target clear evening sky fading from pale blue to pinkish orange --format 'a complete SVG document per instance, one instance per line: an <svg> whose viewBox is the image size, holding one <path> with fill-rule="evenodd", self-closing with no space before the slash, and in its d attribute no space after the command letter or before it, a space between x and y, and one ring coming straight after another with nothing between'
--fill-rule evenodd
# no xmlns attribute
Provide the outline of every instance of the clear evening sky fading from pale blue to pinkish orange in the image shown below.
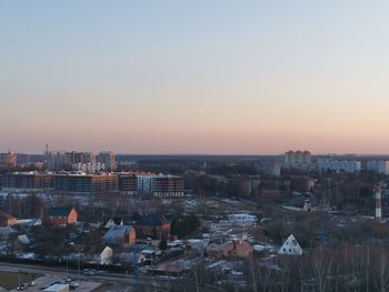
<svg viewBox="0 0 389 292"><path fill-rule="evenodd" d="M0 152L389 153L389 1L0 1Z"/></svg>

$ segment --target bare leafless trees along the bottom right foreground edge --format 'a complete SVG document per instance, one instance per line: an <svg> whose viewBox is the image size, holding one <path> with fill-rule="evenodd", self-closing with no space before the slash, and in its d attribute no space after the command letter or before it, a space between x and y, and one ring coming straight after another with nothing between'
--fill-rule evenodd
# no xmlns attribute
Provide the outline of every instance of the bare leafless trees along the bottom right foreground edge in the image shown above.
<svg viewBox="0 0 389 292"><path fill-rule="evenodd" d="M192 271L191 285L178 280L178 286L181 291L387 292L389 248L319 246L301 256L277 256L272 260L251 256L242 271L245 285L241 280L220 285L222 275L200 264Z"/></svg>

